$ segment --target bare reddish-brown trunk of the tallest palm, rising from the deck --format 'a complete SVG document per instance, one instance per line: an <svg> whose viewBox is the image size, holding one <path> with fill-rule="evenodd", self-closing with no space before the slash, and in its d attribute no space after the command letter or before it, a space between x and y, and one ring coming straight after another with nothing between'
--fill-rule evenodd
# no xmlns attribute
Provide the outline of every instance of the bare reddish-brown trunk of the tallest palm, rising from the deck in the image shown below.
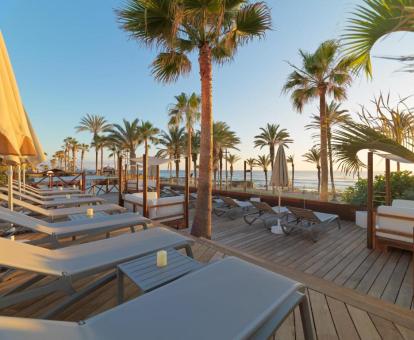
<svg viewBox="0 0 414 340"><path fill-rule="evenodd" d="M201 78L201 140L198 199L191 234L211 238L211 175L213 160L212 64L211 47L201 46L199 51Z"/></svg>

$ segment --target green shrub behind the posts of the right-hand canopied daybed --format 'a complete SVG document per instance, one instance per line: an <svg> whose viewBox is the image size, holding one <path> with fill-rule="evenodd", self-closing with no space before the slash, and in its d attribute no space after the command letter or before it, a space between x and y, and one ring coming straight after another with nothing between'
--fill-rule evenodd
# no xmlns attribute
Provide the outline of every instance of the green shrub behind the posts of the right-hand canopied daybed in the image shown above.
<svg viewBox="0 0 414 340"><path fill-rule="evenodd" d="M411 171L392 172L390 176L391 196L395 198L414 200L414 176ZM342 199L350 204L367 205L368 181L359 179L353 187L347 188ZM377 175L374 178L374 204L385 203L385 176Z"/></svg>

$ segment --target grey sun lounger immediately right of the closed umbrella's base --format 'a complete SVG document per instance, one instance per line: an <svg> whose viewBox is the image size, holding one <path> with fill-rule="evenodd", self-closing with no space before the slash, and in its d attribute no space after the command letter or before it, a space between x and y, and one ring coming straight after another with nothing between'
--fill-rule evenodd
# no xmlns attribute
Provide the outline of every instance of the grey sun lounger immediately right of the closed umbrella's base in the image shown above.
<svg viewBox="0 0 414 340"><path fill-rule="evenodd" d="M297 207L288 207L288 209L290 212L289 217L293 217L293 220L291 219L286 223L282 223L282 230L286 235L289 235L295 229L299 229L307 231L312 240L316 242L319 233L329 224L336 222L338 228L341 228L341 222L338 215L326 214Z"/></svg>

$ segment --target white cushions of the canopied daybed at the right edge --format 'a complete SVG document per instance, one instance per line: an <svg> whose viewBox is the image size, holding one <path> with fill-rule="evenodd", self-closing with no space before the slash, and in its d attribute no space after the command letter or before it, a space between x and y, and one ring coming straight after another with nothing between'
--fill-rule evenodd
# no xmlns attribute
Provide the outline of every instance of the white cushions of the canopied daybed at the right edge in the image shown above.
<svg viewBox="0 0 414 340"><path fill-rule="evenodd" d="M411 218L412 220L397 219L392 217L378 216L376 220L376 228L388 229L397 232L404 232L408 234L413 233L414 227L414 209L411 208L396 208L394 206L381 205L378 207L378 214L396 215L405 218ZM399 235L391 235L388 233L381 233L377 231L377 236L397 241L413 242L412 237L405 237Z"/></svg>

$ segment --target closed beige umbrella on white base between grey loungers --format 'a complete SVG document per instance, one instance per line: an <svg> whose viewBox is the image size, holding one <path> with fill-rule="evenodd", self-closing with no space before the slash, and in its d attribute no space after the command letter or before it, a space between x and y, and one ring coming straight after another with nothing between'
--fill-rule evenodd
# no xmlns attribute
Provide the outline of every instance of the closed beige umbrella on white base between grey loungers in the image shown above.
<svg viewBox="0 0 414 340"><path fill-rule="evenodd" d="M283 232L281 225L280 225L280 209L281 209L281 195L282 195L281 190L282 188L287 187L289 185L287 161L286 161L285 149L283 145L279 145L279 148L277 149L270 183L271 185L278 188L278 194L279 194L279 214L277 218L277 226L272 227L272 232L275 234L281 234Z"/></svg>

